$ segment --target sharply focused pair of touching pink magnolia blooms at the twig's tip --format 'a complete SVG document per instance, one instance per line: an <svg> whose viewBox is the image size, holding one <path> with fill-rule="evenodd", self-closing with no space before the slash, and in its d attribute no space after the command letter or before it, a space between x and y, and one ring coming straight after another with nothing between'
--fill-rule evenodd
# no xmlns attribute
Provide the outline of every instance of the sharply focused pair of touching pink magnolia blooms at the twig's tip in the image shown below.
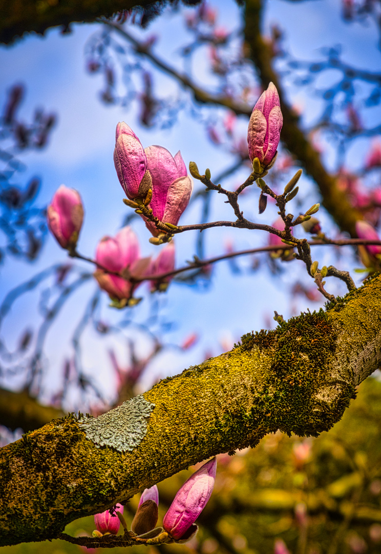
<svg viewBox="0 0 381 554"><path fill-rule="evenodd" d="M170 235L158 229L155 221L176 228L193 189L180 151L173 157L162 146L144 150L132 129L121 122L116 130L114 163L128 198L124 202L143 217L153 235L152 243L166 242Z"/></svg>

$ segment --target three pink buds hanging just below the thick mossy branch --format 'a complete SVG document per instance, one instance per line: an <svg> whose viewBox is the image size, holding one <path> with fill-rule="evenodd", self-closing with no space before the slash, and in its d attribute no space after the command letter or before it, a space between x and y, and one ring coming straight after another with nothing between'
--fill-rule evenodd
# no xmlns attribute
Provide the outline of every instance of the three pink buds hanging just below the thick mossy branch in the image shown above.
<svg viewBox="0 0 381 554"><path fill-rule="evenodd" d="M156 485L145 489L140 497L137 512L131 524L131 531L140 539L154 540L154 543L187 542L197 533L197 517L205 508L213 491L216 478L217 459L212 458L195 471L181 486L163 520L163 527L156 527L158 522L159 492ZM108 533L116 535L119 530L119 519L123 522L123 506L117 504L111 515L109 510L95 515L96 530L93 536ZM127 526L123 523L125 529ZM149 544L150 542L148 542Z"/></svg>

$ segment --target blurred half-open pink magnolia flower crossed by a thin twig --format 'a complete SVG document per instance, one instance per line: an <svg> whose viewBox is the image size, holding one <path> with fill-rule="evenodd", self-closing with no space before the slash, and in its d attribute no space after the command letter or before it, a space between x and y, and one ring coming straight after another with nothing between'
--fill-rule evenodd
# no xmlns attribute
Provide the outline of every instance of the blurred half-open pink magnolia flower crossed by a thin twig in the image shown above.
<svg viewBox="0 0 381 554"><path fill-rule="evenodd" d="M123 227L116 237L103 237L98 244L96 261L114 273L127 272L135 277L147 273L150 258L140 258L137 236L131 227ZM112 300L129 299L140 283L132 283L128 279L106 273L98 268L94 273L101 289L105 290Z"/></svg>

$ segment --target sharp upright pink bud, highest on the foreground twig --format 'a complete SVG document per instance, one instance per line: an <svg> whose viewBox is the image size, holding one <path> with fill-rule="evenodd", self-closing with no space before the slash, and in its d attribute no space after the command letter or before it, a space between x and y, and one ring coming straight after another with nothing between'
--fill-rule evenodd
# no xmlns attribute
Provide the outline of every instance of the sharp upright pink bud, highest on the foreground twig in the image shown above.
<svg viewBox="0 0 381 554"><path fill-rule="evenodd" d="M250 116L247 142L251 161L259 158L264 166L269 165L278 148L282 125L283 116L278 90L274 83L270 83L255 104Z"/></svg>

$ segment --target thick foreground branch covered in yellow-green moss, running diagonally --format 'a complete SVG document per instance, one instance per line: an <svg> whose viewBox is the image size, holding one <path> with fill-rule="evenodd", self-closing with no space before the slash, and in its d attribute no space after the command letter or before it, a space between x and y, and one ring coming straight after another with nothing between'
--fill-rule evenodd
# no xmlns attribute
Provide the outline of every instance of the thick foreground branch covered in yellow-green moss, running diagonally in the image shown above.
<svg viewBox="0 0 381 554"><path fill-rule="evenodd" d="M380 335L378 276L105 416L56 419L24 435L0 450L0 545L57 537L77 517L276 429L330 429L379 366Z"/></svg>

